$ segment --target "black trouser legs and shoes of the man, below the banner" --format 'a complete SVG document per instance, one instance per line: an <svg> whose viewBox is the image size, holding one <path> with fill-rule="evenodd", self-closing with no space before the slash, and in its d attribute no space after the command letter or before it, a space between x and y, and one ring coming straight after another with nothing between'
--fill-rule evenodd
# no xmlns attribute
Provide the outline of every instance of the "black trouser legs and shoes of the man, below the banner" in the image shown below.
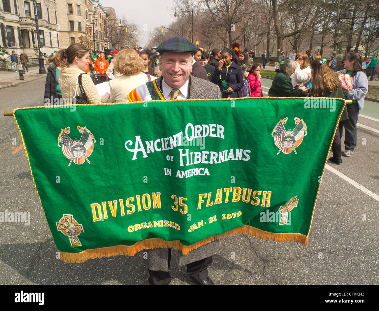
<svg viewBox="0 0 379 311"><path fill-rule="evenodd" d="M168 253L168 267L170 268L170 261L171 261L171 248L169 248ZM212 263L212 256L209 256L207 258L191 262L191 264L187 265L187 273L191 276L191 278L194 278L196 281L201 282L204 279L208 277L208 270L207 268ZM148 279L150 285L166 285L171 282L171 276L169 272L164 271L153 271L150 269L149 274L150 277Z"/></svg>

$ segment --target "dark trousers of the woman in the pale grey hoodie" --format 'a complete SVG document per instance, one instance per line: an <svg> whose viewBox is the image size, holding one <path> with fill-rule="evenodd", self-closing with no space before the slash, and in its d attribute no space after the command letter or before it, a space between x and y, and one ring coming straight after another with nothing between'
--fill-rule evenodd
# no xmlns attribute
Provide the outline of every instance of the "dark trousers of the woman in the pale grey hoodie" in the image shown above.
<svg viewBox="0 0 379 311"><path fill-rule="evenodd" d="M357 103L346 104L349 118L340 122L338 126L340 130L340 137L343 134L343 128L345 127L345 149L354 151L357 146L357 121L359 108Z"/></svg>

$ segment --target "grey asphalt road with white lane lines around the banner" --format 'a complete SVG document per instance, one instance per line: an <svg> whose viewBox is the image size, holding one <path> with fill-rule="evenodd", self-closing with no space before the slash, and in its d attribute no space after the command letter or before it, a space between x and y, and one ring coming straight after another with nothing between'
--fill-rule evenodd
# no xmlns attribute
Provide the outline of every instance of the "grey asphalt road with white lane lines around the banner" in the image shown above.
<svg viewBox="0 0 379 311"><path fill-rule="evenodd" d="M44 82L39 79L0 90L1 111L38 106ZM271 80L263 85L269 87ZM365 103L366 110L360 114L379 119L378 108L379 104ZM57 249L31 180L19 131L12 117L0 118L0 212L24 211L31 217L29 226L0 223L0 283L147 284L142 252L82 264L67 264L56 258ZM358 128L354 155L344 157L339 166L328 163L332 170L325 170L309 246L248 235L222 238L220 251L208 268L216 284L379 283L379 202L362 188L376 197L379 194L379 120L359 117L358 123L369 129ZM359 188L333 169L359 183ZM175 258L170 269L171 284L194 284L185 267L177 268Z"/></svg>

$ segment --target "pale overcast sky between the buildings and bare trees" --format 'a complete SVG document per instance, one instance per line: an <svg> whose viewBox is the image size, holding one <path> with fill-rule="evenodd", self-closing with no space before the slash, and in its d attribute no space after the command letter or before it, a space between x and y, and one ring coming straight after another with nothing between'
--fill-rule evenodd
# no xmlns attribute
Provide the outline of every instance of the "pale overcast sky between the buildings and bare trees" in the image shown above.
<svg viewBox="0 0 379 311"><path fill-rule="evenodd" d="M167 26L174 21L174 13L171 12L172 0L100 0L105 7L112 7L116 11L117 18L125 18L136 22L140 28L139 46L144 47L149 40L149 33L160 26ZM144 24L147 31L144 31Z"/></svg>

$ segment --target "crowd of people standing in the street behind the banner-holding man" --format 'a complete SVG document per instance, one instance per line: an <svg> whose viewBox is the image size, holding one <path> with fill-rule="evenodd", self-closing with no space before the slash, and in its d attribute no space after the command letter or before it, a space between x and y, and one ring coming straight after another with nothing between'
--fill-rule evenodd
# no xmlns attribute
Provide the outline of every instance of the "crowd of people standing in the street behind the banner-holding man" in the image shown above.
<svg viewBox="0 0 379 311"><path fill-rule="evenodd" d="M238 45L232 49L215 48L211 53L195 48L191 76L217 85L221 98L264 96L261 70L270 55L263 51L261 57L261 63L254 62L255 52L241 51ZM25 58L27 56L23 56ZM77 103L128 102L128 94L133 89L162 76L160 59L161 53L156 46L149 50L122 47L119 51L106 49L91 53L81 44L71 44L49 58L52 66L48 68L46 78L45 103L51 104L55 98L75 98ZM368 88L367 79L363 79L362 56L349 52L343 60L345 69L337 72L334 56L327 62L320 52L313 56L310 51L296 53L293 50L288 58L282 52L278 60L280 67L276 70L268 96L344 97L353 100L346 106L332 148L334 156L331 161L341 163L340 134L345 129L343 155L351 156L357 143L358 114L363 109ZM367 61L371 79L376 72L379 74L378 65L375 53ZM345 74L351 77L348 79L351 85L346 86L343 83L346 80L341 83L340 79L344 79Z"/></svg>

